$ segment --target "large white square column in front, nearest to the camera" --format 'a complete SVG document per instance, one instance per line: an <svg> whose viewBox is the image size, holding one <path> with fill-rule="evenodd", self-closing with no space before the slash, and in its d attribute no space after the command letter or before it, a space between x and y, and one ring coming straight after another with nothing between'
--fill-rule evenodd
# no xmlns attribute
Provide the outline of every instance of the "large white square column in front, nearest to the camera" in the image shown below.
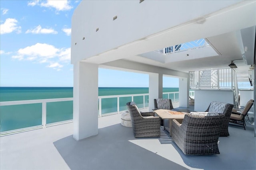
<svg viewBox="0 0 256 170"><path fill-rule="evenodd" d="M98 64L74 63L73 121L75 140L98 134Z"/></svg>

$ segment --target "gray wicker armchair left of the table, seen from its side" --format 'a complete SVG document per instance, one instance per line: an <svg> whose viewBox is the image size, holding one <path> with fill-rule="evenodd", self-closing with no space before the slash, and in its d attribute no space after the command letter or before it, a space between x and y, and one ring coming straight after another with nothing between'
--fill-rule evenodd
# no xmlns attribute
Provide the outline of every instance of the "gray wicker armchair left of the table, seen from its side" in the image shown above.
<svg viewBox="0 0 256 170"><path fill-rule="evenodd" d="M134 137L160 137L160 117L153 112L140 112L135 104L126 104L130 113Z"/></svg>

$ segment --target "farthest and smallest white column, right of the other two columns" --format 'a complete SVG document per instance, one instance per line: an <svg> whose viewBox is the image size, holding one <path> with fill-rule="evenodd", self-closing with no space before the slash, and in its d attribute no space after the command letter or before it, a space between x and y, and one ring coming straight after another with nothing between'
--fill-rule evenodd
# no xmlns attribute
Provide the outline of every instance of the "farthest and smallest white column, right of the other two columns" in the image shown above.
<svg viewBox="0 0 256 170"><path fill-rule="evenodd" d="M189 81L188 78L179 78L180 107L189 107Z"/></svg>

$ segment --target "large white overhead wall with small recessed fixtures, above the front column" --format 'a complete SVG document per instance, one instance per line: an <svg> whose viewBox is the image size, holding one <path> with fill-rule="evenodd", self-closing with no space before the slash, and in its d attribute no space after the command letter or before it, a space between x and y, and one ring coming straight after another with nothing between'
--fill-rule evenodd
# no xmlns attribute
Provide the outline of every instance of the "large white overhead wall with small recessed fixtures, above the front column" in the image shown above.
<svg viewBox="0 0 256 170"><path fill-rule="evenodd" d="M226 27L230 24L234 30L240 29L241 23L253 25L254 21L251 21L254 20L253 18L251 20L243 20L243 18L255 16L251 16L250 12L239 13L243 6L236 9L235 5L240 2L238 0L186 1L185 3L184 1L150 0L142 3L139 3L139 0L82 1L72 17L71 62L94 57L87 62L100 64L164 48L166 45L193 41L198 37L204 38L230 32L232 31L230 27ZM252 10L253 8L252 6ZM219 10L223 11L214 14L214 17L211 16ZM222 16L225 12L240 17L238 16L236 21L227 23ZM113 21L114 16L117 16L117 19ZM216 29L216 21L222 27ZM96 28L99 30L96 31ZM162 36L171 35L172 38L150 37L165 30L166 34ZM191 30L193 33L190 33ZM145 39L151 41L145 41ZM152 43L153 40L154 43ZM139 48L131 50L130 47L134 45ZM122 50L120 50L121 47ZM106 51L108 51L108 57L103 57L106 54L102 55L102 53ZM109 55L113 51L115 55Z"/></svg>

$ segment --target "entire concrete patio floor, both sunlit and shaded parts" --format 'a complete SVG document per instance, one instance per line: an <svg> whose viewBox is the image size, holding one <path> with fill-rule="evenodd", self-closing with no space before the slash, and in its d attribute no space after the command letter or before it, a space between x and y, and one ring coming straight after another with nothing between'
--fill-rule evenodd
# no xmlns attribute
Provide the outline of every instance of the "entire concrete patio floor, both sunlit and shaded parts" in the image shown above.
<svg viewBox="0 0 256 170"><path fill-rule="evenodd" d="M75 141L73 123L0 137L1 170L255 170L253 126L229 126L220 154L184 155L161 129L160 138L135 138L120 115L98 118L98 135Z"/></svg>

